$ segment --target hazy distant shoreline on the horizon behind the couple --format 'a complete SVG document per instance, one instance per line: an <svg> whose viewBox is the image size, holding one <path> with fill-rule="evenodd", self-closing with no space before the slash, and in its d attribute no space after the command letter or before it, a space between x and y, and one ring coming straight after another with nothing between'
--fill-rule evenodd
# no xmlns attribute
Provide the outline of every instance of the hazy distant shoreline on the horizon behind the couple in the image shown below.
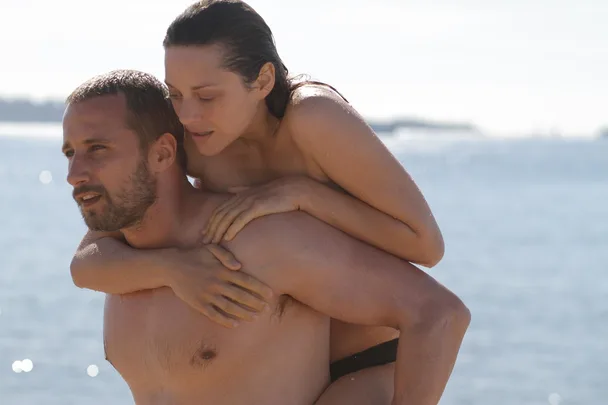
<svg viewBox="0 0 608 405"><path fill-rule="evenodd" d="M24 99L0 99L0 122L43 124L60 123L65 104L60 101L34 102ZM478 132L475 125L467 122L440 122L418 118L392 120L368 120L376 132L394 132L400 128L417 130Z"/></svg>

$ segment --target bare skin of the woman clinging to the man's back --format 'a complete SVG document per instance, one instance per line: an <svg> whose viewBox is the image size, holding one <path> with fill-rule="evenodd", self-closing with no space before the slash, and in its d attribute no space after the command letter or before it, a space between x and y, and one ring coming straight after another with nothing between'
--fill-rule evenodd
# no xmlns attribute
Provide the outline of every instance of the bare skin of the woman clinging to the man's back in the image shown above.
<svg viewBox="0 0 608 405"><path fill-rule="evenodd" d="M191 134L185 139L188 174L205 190L236 192L199 223L203 242L229 241L256 217L300 210L402 259L427 267L441 259L441 232L422 193L349 104L328 88L304 86L279 121L264 103L274 86L273 65L266 64L254 83L245 84L221 67L222 51L217 45L166 50L166 82ZM208 136L192 135L210 130ZM228 295L208 298L197 274L198 256L192 260L170 249L142 254L103 236L89 232L81 242L71 266L76 285L107 293L168 285L210 319L233 325L209 309L209 302ZM169 267L175 270L167 281L163 273ZM397 336L394 328L332 320L331 360ZM393 387L393 379L386 378L393 370L388 364L347 378L365 378L367 386L385 392Z"/></svg>

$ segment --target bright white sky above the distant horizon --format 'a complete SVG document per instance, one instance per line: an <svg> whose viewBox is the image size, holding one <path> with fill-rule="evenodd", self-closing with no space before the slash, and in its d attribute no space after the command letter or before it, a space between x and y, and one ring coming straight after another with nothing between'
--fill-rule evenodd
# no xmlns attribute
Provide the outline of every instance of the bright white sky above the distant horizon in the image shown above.
<svg viewBox="0 0 608 405"><path fill-rule="evenodd" d="M192 0L2 0L0 97L63 99L91 76L164 78L162 39ZM470 121L500 133L608 126L606 0L249 2L291 73L368 118Z"/></svg>

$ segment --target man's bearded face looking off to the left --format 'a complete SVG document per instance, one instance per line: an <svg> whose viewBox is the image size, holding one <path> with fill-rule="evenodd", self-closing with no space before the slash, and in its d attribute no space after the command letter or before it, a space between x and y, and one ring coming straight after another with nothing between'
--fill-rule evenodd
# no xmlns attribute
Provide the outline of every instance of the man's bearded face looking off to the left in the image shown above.
<svg viewBox="0 0 608 405"><path fill-rule="evenodd" d="M63 153L74 200L93 231L113 232L139 223L156 200L147 154L126 124L124 96L71 104L63 118Z"/></svg>

